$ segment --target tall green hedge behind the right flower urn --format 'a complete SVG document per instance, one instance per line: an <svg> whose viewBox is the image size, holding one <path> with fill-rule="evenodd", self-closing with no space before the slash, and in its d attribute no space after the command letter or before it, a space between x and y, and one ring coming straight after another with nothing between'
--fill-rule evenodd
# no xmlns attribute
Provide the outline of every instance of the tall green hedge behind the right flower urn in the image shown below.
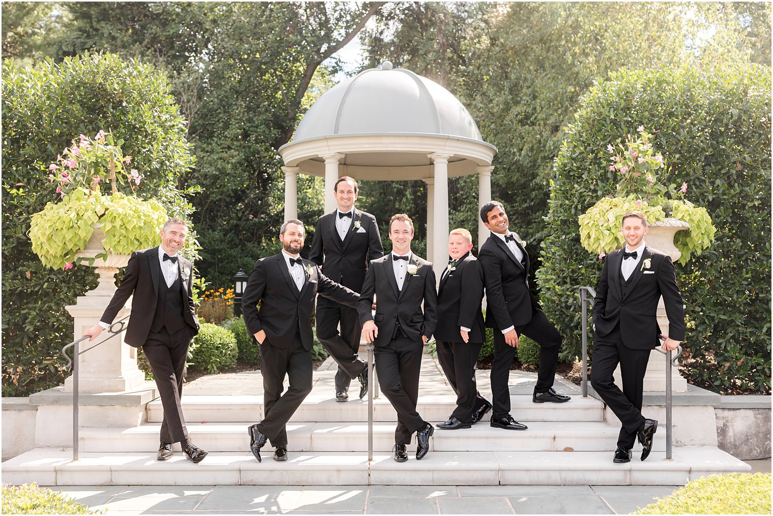
<svg viewBox="0 0 773 516"><path fill-rule="evenodd" d="M595 287L602 266L581 247L577 218L615 193L608 144L643 125L669 165L663 182L686 182L686 198L717 226L710 249L676 267L688 375L717 389L770 392L770 92L768 66L710 75L624 69L583 97L556 159L538 273L544 311L564 335L562 358L580 353L577 288Z"/></svg>

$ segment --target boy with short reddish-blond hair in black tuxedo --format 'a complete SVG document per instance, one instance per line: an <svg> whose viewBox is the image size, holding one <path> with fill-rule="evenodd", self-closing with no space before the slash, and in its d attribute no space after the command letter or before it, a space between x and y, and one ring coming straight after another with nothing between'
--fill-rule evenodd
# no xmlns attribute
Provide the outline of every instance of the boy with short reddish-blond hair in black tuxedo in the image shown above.
<svg viewBox="0 0 773 516"><path fill-rule="evenodd" d="M448 235L448 266L438 287L438 362L456 393L456 409L438 428L455 430L478 423L491 403L480 395L475 383L475 362L485 341L483 270L472 256L472 235L454 229Z"/></svg>

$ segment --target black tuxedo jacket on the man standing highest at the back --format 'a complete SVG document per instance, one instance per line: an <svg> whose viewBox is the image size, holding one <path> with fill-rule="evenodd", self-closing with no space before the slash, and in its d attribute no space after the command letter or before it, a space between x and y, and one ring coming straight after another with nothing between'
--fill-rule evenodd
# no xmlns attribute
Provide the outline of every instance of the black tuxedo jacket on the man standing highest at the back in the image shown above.
<svg viewBox="0 0 773 516"><path fill-rule="evenodd" d="M368 260L384 256L379 226L376 217L355 208L349 231L341 242L338 229L335 229L337 218L338 209L319 218L308 259L321 265L326 277L359 291L368 270Z"/></svg>

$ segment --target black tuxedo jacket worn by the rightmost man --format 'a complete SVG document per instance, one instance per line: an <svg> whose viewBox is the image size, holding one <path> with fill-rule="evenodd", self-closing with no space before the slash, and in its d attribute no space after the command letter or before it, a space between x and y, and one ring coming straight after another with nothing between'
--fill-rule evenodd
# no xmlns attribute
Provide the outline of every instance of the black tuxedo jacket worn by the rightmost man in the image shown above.
<svg viewBox="0 0 773 516"><path fill-rule="evenodd" d="M671 257L645 245L642 260L628 277L625 297L621 288L622 260L622 250L610 253L598 278L593 304L596 335L610 334L619 322L620 337L628 348L655 348L662 333L656 319L658 300L662 296L669 317L668 336L684 341L684 306Z"/></svg>

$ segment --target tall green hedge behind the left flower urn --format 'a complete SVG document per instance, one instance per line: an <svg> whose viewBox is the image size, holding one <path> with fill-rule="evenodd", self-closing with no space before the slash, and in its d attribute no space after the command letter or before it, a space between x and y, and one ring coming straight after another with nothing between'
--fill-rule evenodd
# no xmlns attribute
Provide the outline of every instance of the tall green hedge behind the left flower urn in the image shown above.
<svg viewBox="0 0 773 516"><path fill-rule="evenodd" d="M27 237L29 217L56 201L47 170L73 138L100 129L124 139L124 155L145 177L138 195L170 215L189 205L175 189L193 163L185 122L166 76L112 54L89 54L30 70L2 66L2 395L29 395L60 384L60 349L73 340L65 310L97 285L88 266L44 267Z"/></svg>

